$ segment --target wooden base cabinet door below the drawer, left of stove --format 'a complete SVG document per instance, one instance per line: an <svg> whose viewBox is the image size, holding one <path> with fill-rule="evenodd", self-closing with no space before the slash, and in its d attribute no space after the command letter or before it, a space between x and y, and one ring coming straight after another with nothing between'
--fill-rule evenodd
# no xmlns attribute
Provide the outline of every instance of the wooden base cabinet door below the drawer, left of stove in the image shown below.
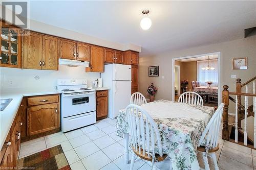
<svg viewBox="0 0 256 170"><path fill-rule="evenodd" d="M57 103L31 106L28 108L28 135L50 131L59 127L59 106Z"/></svg>

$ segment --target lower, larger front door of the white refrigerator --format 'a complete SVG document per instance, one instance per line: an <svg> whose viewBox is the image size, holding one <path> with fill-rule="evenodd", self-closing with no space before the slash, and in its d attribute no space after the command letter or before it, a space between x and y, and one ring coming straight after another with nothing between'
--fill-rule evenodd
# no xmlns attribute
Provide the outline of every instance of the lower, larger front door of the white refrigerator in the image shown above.
<svg viewBox="0 0 256 170"><path fill-rule="evenodd" d="M111 114L114 118L118 116L119 110L125 109L130 104L131 98L131 81L113 81L113 104Z"/></svg>

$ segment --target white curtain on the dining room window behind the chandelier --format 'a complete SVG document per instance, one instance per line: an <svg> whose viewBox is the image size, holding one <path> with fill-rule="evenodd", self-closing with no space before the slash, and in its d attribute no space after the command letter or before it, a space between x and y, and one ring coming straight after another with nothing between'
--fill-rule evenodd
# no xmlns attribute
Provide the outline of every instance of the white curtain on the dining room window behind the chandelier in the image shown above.
<svg viewBox="0 0 256 170"><path fill-rule="evenodd" d="M215 69L203 70L203 67L207 67L209 62L210 67ZM218 60L203 60L197 61L197 81L200 86L207 86L206 82L212 82L211 86L218 86Z"/></svg>

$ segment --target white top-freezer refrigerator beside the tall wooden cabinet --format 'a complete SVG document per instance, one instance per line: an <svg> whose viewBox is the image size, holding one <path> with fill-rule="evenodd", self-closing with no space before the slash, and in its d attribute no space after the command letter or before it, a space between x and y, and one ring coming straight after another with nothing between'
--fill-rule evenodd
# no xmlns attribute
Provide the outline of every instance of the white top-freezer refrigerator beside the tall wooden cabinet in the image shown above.
<svg viewBox="0 0 256 170"><path fill-rule="evenodd" d="M115 118L119 110L130 104L132 86L132 66L123 64L105 65L101 74L103 87L109 87L109 114Z"/></svg>

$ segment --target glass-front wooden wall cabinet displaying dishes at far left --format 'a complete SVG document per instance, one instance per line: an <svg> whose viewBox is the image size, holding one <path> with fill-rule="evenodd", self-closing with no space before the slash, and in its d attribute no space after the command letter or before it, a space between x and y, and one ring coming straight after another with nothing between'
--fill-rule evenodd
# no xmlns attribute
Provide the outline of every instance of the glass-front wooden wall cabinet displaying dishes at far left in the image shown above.
<svg viewBox="0 0 256 170"><path fill-rule="evenodd" d="M1 21L0 66L21 67L22 36L18 28Z"/></svg>

